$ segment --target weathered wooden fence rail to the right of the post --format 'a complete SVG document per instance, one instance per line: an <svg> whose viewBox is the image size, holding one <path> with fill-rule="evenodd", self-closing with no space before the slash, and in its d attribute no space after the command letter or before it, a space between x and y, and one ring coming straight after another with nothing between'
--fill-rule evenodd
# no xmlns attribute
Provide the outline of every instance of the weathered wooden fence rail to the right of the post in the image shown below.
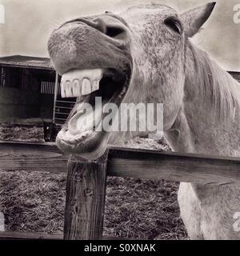
<svg viewBox="0 0 240 256"><path fill-rule="evenodd" d="M111 147L107 170L121 177L240 186L240 158L232 157Z"/></svg>

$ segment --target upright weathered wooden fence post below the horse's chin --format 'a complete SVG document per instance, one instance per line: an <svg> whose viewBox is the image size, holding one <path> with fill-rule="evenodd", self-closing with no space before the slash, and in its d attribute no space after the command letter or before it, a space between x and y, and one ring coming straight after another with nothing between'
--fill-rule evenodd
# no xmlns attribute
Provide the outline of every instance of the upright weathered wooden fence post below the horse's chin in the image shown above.
<svg viewBox="0 0 240 256"><path fill-rule="evenodd" d="M95 161L68 162L66 181L65 240L102 239L106 193L107 154Z"/></svg>

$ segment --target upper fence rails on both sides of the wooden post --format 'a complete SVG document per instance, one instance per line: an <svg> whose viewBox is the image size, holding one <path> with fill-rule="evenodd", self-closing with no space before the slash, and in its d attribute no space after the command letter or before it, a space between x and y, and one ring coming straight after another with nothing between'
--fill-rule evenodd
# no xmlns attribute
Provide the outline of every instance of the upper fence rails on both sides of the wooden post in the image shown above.
<svg viewBox="0 0 240 256"><path fill-rule="evenodd" d="M0 142L0 169L66 172L68 156L54 143ZM110 147L107 174L240 186L240 158Z"/></svg>

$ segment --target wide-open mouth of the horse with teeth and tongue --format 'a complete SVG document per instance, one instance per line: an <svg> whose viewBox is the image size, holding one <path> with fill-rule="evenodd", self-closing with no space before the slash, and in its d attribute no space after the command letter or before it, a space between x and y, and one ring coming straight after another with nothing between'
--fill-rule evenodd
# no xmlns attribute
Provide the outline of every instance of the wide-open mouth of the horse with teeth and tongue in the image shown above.
<svg viewBox="0 0 240 256"><path fill-rule="evenodd" d="M120 105L128 89L129 76L114 69L70 70L62 74L62 98L76 97L57 144L74 154L101 156L106 150L107 132L102 129L107 103ZM96 104L96 99L98 103Z"/></svg>

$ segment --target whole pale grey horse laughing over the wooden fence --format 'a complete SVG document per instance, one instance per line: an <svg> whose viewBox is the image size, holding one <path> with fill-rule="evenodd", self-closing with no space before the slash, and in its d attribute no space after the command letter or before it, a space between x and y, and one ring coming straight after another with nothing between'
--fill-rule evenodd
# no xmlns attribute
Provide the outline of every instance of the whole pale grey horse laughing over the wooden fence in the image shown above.
<svg viewBox="0 0 240 256"><path fill-rule="evenodd" d="M82 102L94 106L94 97L101 96L118 106L162 102L163 133L174 151L238 157L240 85L190 39L214 6L182 14L160 4L132 6L118 15L75 18L54 30L48 51L62 75L62 96L77 97L58 147L95 159L107 143L138 134L89 130ZM240 211L239 188L181 182L178 203L190 239L240 238L233 217Z"/></svg>

